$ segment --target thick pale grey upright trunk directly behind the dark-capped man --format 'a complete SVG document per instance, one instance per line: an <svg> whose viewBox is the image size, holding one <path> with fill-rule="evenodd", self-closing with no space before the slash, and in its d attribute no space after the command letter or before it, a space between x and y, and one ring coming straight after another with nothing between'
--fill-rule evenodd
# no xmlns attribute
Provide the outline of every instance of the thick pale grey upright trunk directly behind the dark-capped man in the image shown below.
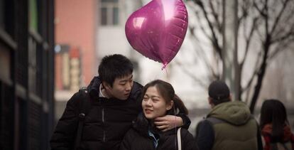
<svg viewBox="0 0 294 150"><path fill-rule="evenodd" d="M237 60L238 1L223 0L223 48L222 80L229 86L234 100L239 99L239 75Z"/></svg>

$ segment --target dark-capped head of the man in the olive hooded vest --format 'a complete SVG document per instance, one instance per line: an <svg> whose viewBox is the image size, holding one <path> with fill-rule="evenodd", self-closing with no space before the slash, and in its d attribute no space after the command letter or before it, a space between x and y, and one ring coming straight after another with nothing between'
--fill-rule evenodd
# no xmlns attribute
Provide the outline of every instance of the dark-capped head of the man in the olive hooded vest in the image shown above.
<svg viewBox="0 0 294 150"><path fill-rule="evenodd" d="M229 87L221 80L216 80L209 85L208 95L212 98L214 105L230 101Z"/></svg>

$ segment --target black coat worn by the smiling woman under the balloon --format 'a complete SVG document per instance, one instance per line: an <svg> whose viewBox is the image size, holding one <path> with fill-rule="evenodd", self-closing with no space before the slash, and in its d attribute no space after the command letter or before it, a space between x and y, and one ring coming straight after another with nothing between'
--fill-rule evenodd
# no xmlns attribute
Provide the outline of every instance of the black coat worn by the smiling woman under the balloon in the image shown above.
<svg viewBox="0 0 294 150"><path fill-rule="evenodd" d="M158 146L155 147L153 139L148 135L148 121L143 114L139 114L133 127L126 133L121 142L120 150L178 150L177 129L168 132L160 132L156 129L155 134L159 136ZM187 129L181 129L181 144L183 150L196 150L194 138Z"/></svg>

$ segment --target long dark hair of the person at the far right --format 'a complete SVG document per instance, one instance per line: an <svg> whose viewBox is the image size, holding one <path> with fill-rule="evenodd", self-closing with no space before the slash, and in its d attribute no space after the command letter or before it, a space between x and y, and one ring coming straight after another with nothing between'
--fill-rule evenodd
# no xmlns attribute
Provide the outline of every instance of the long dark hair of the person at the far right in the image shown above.
<svg viewBox="0 0 294 150"><path fill-rule="evenodd" d="M265 100L261 106L261 129L272 124L272 140L283 141L283 128L288 123L285 106L279 100Z"/></svg>

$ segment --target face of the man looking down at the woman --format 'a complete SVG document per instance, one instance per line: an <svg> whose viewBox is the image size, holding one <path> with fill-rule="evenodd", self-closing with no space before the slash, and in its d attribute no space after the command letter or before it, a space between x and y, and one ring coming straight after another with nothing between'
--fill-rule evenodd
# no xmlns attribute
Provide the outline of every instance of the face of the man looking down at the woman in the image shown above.
<svg viewBox="0 0 294 150"><path fill-rule="evenodd" d="M105 90L109 97L115 97L119 100L126 100L130 95L133 85L133 75L130 74L121 78L116 78L112 87L106 84Z"/></svg>

